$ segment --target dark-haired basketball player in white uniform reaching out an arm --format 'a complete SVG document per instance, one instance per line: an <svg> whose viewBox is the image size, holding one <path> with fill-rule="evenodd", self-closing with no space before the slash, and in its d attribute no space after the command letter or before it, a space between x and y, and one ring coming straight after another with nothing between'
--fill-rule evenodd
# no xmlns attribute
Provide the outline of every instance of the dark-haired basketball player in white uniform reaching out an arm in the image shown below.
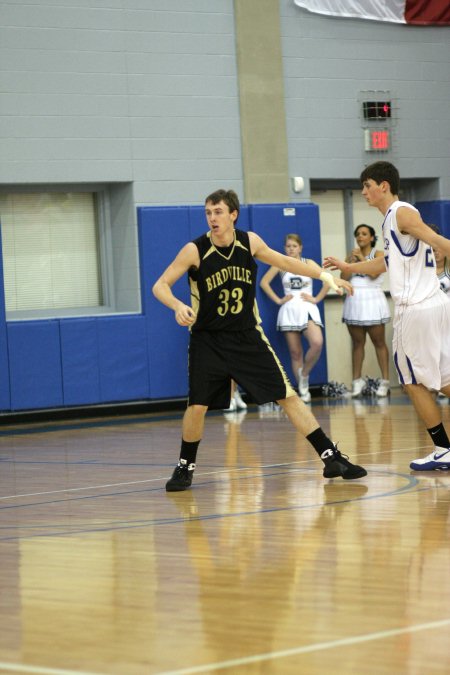
<svg viewBox="0 0 450 675"><path fill-rule="evenodd" d="M395 305L395 367L435 446L410 467L449 470L450 441L435 394L450 396L450 299L440 288L433 248L450 256L450 240L428 227L414 206L399 201L399 173L389 162L366 167L361 183L369 206L384 216L384 258L345 263L327 257L324 267L347 273L381 274L387 269Z"/></svg>

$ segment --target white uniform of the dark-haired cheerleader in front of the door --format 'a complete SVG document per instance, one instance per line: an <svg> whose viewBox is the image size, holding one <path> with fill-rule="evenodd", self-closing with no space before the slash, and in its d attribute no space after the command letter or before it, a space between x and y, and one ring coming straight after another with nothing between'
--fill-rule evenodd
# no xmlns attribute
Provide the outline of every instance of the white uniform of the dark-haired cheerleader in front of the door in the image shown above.
<svg viewBox="0 0 450 675"><path fill-rule="evenodd" d="M375 258L373 248L366 260ZM382 289L384 274L375 279L367 274L352 274L353 295L344 301L342 321L352 326L377 326L391 319L389 305Z"/></svg>

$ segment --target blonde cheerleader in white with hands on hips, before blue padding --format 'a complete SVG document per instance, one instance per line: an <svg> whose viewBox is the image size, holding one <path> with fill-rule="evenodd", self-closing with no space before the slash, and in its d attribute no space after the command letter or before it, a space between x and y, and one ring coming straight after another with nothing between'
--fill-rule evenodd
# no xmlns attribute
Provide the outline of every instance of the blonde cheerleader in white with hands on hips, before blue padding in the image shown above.
<svg viewBox="0 0 450 675"><path fill-rule="evenodd" d="M298 234L288 234L284 240L284 250L291 258L302 258L303 243ZM281 276L284 296L280 298L272 289L271 282L277 274ZM313 296L311 277L304 277L291 272L284 272L278 267L270 267L262 277L260 286L273 302L280 305L277 318L277 330L282 331L291 357L292 372L298 383L302 401L309 403L309 374L317 363L323 347L322 328L317 303L328 293L329 286L324 284L322 289ZM301 335L308 342L308 349L303 355Z"/></svg>

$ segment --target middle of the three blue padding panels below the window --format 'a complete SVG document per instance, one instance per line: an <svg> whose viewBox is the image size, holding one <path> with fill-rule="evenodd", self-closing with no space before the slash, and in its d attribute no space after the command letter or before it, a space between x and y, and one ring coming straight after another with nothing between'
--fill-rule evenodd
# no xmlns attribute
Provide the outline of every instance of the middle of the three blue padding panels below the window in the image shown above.
<svg viewBox="0 0 450 675"><path fill-rule="evenodd" d="M100 396L97 319L60 323L64 405L98 403Z"/></svg>

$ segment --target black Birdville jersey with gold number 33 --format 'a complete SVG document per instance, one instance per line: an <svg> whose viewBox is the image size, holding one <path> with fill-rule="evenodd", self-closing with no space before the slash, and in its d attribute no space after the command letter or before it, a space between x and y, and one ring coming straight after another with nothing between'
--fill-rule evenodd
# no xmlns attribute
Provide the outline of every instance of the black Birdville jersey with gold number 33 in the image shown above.
<svg viewBox="0 0 450 675"><path fill-rule="evenodd" d="M192 330L246 330L260 322L255 300L257 265L247 232L235 230L234 242L216 247L207 232L193 242L200 266L189 270Z"/></svg>

